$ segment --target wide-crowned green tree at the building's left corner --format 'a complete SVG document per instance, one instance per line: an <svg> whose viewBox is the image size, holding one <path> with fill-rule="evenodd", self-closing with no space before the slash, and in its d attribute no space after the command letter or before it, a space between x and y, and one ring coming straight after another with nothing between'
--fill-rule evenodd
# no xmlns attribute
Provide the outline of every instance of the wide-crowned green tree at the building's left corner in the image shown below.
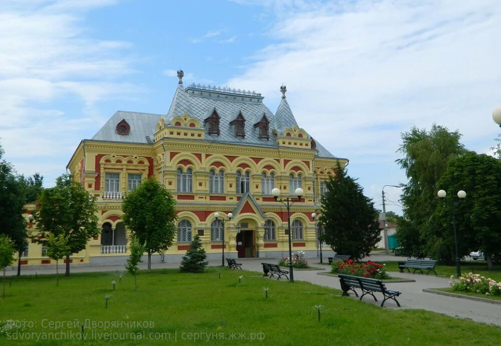
<svg viewBox="0 0 501 346"><path fill-rule="evenodd" d="M66 272L70 275L70 255L84 250L87 242L97 235L96 197L90 195L71 174L63 174L56 186L42 191L39 209L33 214L40 242L46 235L64 234L70 246L66 254Z"/></svg>

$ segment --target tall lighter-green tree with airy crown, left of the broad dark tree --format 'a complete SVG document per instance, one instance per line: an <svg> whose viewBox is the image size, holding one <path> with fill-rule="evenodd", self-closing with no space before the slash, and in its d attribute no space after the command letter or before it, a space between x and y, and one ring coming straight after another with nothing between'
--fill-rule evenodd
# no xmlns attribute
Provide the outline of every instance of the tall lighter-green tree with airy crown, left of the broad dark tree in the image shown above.
<svg viewBox="0 0 501 346"><path fill-rule="evenodd" d="M435 186L449 160L466 153L460 138L459 132L436 124L430 130L413 127L402 134L398 152L403 157L396 162L405 170L408 182L403 185L403 218L396 237L406 256L423 258L435 246L437 239L429 223L438 203Z"/></svg>

